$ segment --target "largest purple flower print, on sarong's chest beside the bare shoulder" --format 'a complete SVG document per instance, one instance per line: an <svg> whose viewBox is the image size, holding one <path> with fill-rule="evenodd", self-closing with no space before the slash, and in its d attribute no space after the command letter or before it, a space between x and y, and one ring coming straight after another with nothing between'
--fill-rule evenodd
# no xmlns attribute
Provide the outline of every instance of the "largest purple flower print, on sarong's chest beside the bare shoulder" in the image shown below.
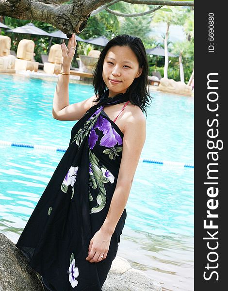
<svg viewBox="0 0 228 291"><path fill-rule="evenodd" d="M103 123L98 129L102 130L104 134L100 140L100 146L114 147L117 143L118 145L122 145L123 141L121 136L115 131L107 119L103 118Z"/></svg>

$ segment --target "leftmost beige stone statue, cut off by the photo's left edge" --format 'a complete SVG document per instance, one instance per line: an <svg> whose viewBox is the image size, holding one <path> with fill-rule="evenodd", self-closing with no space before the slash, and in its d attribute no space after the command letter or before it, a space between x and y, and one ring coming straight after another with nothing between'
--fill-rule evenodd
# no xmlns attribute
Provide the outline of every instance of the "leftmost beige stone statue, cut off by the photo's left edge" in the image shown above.
<svg viewBox="0 0 228 291"><path fill-rule="evenodd" d="M0 35L0 72L15 73L16 57L10 54L11 38L9 36Z"/></svg>

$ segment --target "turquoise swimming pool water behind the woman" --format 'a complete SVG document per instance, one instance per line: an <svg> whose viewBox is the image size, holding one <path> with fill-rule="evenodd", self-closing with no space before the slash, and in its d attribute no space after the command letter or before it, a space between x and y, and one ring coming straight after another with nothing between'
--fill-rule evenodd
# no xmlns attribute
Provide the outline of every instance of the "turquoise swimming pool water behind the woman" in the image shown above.
<svg viewBox="0 0 228 291"><path fill-rule="evenodd" d="M0 140L67 147L76 121L52 117L56 82L0 75ZM70 84L70 103L93 95ZM194 99L151 92L141 157L193 163ZM0 146L0 231L16 242L64 153ZM194 171L139 162L118 255L163 290L193 290Z"/></svg>

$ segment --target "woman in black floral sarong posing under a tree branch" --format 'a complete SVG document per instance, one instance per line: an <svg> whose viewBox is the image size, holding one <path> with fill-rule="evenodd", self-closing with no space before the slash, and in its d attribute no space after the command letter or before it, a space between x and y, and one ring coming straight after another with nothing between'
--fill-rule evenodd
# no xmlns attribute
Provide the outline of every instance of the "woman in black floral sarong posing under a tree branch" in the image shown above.
<svg viewBox="0 0 228 291"><path fill-rule="evenodd" d="M95 95L69 104L75 34L62 44L53 117L78 120L69 147L16 246L46 290L101 291L125 224L125 206L146 139L148 65L142 41L119 35L103 49Z"/></svg>

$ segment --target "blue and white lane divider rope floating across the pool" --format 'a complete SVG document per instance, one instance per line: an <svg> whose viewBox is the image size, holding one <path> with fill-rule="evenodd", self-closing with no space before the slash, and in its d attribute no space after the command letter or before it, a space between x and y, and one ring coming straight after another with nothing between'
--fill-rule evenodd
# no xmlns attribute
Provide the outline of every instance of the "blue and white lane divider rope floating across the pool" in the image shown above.
<svg viewBox="0 0 228 291"><path fill-rule="evenodd" d="M53 152L65 152L66 151L66 148L61 148L61 147L11 143L11 142L2 141L2 140L0 140L0 146L29 147L29 148L34 148L34 149L39 149L39 150L44 150L44 151L53 151ZM143 158L140 158L139 161L140 162L155 163L155 164L163 164L163 165L169 165L169 166L194 168L194 164L185 164L183 162L158 161L158 160L148 160L148 159L143 159Z"/></svg>

